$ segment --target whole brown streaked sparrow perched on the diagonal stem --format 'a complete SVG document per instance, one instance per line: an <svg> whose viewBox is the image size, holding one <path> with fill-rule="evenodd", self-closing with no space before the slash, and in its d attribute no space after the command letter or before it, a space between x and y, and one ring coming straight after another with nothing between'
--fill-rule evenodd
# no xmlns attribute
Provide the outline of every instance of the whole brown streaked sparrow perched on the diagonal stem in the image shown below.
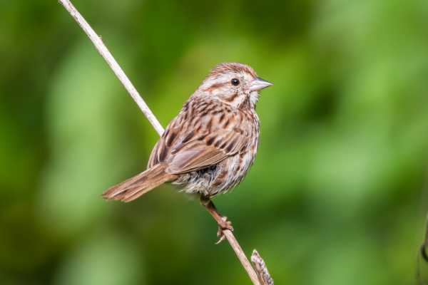
<svg viewBox="0 0 428 285"><path fill-rule="evenodd" d="M219 224L219 235L233 230L210 198L239 185L253 165L260 134L258 90L271 85L243 63L215 66L165 129L147 170L106 190L103 198L129 202L172 182L200 195Z"/></svg>

